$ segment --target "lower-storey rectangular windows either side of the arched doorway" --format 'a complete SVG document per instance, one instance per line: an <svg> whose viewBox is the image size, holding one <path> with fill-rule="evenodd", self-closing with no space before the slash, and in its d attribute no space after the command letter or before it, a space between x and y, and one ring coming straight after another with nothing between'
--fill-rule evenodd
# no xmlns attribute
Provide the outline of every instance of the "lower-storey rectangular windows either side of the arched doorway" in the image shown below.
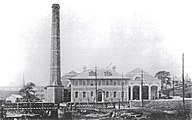
<svg viewBox="0 0 192 120"><path fill-rule="evenodd" d="M88 94L89 92L87 92ZM120 92L120 94L122 94L124 96L124 92ZM90 92L90 96L93 97L93 91ZM79 92L75 92L75 98L78 98L79 97ZM82 94L82 97L83 98L86 98L86 92L83 92ZM105 92L105 97L108 98L109 97L109 92ZM117 92L114 91L113 92L113 97L116 98L117 97Z"/></svg>

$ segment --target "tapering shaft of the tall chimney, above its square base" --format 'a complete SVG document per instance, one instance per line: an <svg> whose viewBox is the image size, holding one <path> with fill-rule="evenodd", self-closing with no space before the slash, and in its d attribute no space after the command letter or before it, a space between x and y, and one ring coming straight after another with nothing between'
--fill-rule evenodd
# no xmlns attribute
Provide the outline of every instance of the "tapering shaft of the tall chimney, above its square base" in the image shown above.
<svg viewBox="0 0 192 120"><path fill-rule="evenodd" d="M52 5L50 85L62 85L60 69L59 4Z"/></svg>

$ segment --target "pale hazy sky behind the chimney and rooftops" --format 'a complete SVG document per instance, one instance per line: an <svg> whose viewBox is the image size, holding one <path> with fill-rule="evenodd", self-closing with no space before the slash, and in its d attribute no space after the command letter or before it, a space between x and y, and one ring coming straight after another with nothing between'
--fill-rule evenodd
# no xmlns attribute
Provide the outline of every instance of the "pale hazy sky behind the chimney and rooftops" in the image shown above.
<svg viewBox="0 0 192 120"><path fill-rule="evenodd" d="M48 85L51 6L60 4L61 75L112 63L192 76L190 0L4 0L0 2L0 86ZM24 76L24 77L23 77Z"/></svg>

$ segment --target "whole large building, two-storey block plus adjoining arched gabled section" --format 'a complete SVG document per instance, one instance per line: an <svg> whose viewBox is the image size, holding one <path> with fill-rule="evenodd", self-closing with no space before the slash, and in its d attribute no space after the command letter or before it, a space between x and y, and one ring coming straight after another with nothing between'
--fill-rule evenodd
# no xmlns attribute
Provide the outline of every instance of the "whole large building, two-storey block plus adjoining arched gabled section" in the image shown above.
<svg viewBox="0 0 192 120"><path fill-rule="evenodd" d="M139 68L126 75L115 69L88 69L70 78L70 81L72 102L141 100L142 92L143 99L151 100L158 98L161 86L160 80Z"/></svg>

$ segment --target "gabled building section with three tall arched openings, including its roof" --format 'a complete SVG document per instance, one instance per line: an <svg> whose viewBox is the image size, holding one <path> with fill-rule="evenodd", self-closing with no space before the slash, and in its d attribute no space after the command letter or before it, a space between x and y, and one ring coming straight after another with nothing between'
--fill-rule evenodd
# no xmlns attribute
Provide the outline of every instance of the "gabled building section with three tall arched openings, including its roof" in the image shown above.
<svg viewBox="0 0 192 120"><path fill-rule="evenodd" d="M153 100L159 98L161 89L159 79L139 68L132 70L125 76L130 78L129 100L141 100L142 98L143 100Z"/></svg>

